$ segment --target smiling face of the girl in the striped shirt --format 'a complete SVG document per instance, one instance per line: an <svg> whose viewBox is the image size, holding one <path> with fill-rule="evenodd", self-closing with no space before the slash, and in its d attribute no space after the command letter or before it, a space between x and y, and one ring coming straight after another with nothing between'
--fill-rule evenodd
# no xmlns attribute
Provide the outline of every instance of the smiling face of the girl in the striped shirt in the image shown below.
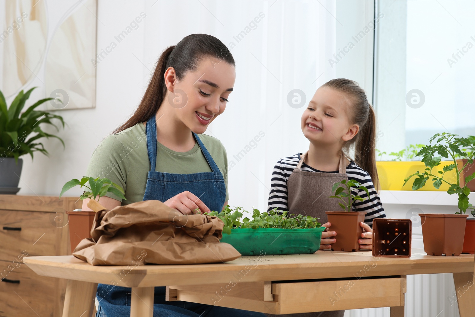
<svg viewBox="0 0 475 317"><path fill-rule="evenodd" d="M351 100L329 87L320 87L302 115L304 136L319 144L332 145L351 140L360 127L350 122Z"/></svg>

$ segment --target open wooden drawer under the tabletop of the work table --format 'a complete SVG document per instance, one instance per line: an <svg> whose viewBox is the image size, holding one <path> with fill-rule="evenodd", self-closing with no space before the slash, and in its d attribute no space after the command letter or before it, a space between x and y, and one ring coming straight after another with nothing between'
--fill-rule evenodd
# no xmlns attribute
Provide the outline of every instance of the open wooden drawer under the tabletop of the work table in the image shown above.
<svg viewBox="0 0 475 317"><path fill-rule="evenodd" d="M250 282L167 287L184 300L269 314L404 306L406 277Z"/></svg>

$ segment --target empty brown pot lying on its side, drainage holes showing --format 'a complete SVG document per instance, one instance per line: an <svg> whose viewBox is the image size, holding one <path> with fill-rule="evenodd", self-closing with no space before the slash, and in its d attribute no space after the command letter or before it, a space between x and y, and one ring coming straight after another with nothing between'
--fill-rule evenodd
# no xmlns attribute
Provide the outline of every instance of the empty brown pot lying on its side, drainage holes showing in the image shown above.
<svg viewBox="0 0 475 317"><path fill-rule="evenodd" d="M373 219L373 257L411 257L410 219Z"/></svg>

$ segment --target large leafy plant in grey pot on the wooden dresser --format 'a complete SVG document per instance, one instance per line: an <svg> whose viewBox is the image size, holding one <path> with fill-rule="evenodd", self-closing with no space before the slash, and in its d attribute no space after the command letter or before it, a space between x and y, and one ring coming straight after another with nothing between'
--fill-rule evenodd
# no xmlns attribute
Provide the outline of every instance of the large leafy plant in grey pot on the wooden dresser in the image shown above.
<svg viewBox="0 0 475 317"><path fill-rule="evenodd" d="M51 120L58 119L64 128L63 118L60 115L36 110L39 105L53 98L38 100L21 113L35 88L31 88L26 93L21 90L11 102L10 107L7 107L0 91L0 194L16 194L19 191L18 183L23 166L20 156L30 154L33 159L33 152L48 154L43 144L37 141L38 139L54 137L61 141L64 147L64 142L60 137L48 134L41 129L42 124L48 124L59 131Z"/></svg>

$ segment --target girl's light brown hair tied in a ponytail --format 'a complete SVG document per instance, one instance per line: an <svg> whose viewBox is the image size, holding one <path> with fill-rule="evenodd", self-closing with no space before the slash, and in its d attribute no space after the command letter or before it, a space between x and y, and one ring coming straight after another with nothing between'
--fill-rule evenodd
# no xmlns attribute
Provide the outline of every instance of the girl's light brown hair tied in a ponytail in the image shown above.
<svg viewBox="0 0 475 317"><path fill-rule="evenodd" d="M368 172L373 181L374 188L379 191L380 181L376 170L376 115L373 107L368 102L368 97L357 82L336 78L323 84L322 87L333 88L349 97L352 110L349 117L352 124L359 125L360 131L343 146L343 150L348 153L350 146L354 144L355 162Z"/></svg>

